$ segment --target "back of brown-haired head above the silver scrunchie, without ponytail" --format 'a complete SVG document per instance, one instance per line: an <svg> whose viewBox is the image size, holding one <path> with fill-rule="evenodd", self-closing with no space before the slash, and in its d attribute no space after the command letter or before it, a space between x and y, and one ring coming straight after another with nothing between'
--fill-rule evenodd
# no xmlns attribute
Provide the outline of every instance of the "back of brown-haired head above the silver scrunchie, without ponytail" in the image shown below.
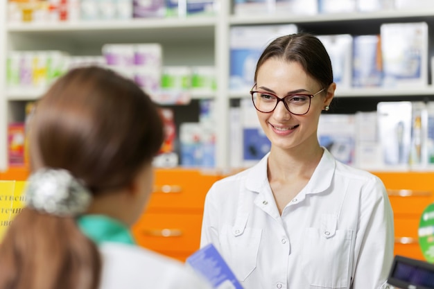
<svg viewBox="0 0 434 289"><path fill-rule="evenodd" d="M163 140L156 106L134 82L98 67L75 69L37 104L32 170L64 168L92 193L122 188Z"/></svg>

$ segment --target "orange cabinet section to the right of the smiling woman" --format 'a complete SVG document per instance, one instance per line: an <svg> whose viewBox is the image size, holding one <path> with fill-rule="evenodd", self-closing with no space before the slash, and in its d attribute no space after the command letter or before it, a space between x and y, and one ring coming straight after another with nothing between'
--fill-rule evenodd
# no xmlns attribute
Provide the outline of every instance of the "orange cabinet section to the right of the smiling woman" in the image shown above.
<svg viewBox="0 0 434 289"><path fill-rule="evenodd" d="M417 230L422 212L434 200L433 172L374 173L388 190L394 215L394 254L424 260Z"/></svg>

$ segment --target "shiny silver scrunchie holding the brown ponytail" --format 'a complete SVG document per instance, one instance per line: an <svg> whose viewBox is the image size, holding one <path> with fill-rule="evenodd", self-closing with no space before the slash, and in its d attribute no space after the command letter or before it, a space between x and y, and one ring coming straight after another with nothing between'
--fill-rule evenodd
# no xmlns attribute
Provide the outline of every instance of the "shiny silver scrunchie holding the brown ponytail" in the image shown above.
<svg viewBox="0 0 434 289"><path fill-rule="evenodd" d="M42 168L27 181L28 207L55 216L78 216L92 201L92 194L68 170Z"/></svg>

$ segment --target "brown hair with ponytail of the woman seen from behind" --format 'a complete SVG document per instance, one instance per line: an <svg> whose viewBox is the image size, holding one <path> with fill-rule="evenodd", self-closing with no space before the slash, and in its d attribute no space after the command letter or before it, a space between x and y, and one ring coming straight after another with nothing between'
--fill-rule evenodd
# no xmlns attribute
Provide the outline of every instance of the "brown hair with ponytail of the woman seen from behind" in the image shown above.
<svg viewBox="0 0 434 289"><path fill-rule="evenodd" d="M62 76L31 120L31 167L64 168L94 194L123 188L164 138L157 106L109 69ZM96 289L101 259L74 218L25 208L0 245L1 289Z"/></svg>

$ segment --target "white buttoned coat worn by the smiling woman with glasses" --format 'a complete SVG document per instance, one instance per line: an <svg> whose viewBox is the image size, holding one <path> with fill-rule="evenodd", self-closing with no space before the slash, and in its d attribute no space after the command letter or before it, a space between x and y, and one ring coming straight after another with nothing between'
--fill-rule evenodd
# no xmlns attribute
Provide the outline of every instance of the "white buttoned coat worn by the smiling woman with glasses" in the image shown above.
<svg viewBox="0 0 434 289"><path fill-rule="evenodd" d="M385 286L394 225L381 180L324 148L308 184L280 215L267 161L211 187L201 247L214 243L245 289Z"/></svg>

